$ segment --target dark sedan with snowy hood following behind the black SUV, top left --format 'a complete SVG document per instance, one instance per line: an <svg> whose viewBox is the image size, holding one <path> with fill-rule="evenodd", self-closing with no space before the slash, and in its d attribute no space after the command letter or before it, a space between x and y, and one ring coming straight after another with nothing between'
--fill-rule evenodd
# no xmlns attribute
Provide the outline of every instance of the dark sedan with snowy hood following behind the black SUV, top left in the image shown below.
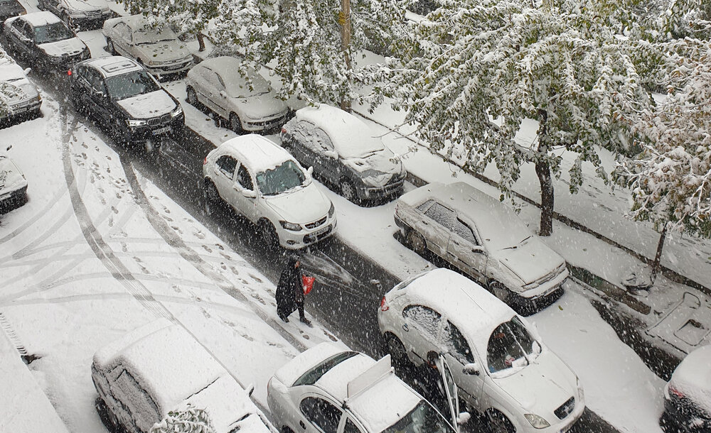
<svg viewBox="0 0 711 433"><path fill-rule="evenodd" d="M48 11L8 18L3 33L8 48L38 67L66 70L91 57L87 45L64 21Z"/></svg>

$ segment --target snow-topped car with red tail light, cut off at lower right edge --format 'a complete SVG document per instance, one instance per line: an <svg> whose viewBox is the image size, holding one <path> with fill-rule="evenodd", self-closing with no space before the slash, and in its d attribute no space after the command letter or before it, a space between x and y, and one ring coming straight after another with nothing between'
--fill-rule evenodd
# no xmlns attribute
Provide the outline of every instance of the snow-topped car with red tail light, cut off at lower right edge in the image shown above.
<svg viewBox="0 0 711 433"><path fill-rule="evenodd" d="M681 361L664 388L660 423L669 433L711 432L711 345Z"/></svg>

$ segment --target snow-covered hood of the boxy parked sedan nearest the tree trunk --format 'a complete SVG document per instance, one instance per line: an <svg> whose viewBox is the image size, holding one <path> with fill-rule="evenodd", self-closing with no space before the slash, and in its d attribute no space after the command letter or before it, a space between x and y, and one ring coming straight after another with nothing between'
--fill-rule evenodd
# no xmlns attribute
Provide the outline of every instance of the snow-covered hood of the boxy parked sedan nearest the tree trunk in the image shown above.
<svg viewBox="0 0 711 433"><path fill-rule="evenodd" d="M517 246L491 251L491 255L513 272L523 285L556 270L565 260L538 236L531 236Z"/></svg>

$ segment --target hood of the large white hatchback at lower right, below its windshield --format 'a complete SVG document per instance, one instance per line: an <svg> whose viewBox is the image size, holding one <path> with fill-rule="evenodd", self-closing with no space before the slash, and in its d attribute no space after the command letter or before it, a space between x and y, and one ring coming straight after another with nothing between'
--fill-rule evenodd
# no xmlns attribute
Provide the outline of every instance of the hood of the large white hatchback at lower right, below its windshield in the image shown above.
<svg viewBox="0 0 711 433"><path fill-rule="evenodd" d="M523 408L525 413L557 420L555 413L569 398L579 398L575 373L555 353L541 353L529 366L510 376L493 378L494 383ZM577 404L577 403L576 403Z"/></svg>

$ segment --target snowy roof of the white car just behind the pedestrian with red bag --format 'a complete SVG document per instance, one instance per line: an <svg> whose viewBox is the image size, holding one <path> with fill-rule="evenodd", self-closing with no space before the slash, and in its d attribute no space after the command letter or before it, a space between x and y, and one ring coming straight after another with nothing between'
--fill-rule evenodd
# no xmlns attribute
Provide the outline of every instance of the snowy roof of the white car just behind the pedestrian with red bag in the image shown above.
<svg viewBox="0 0 711 433"><path fill-rule="evenodd" d="M220 154L230 153L230 155L235 155L240 160L240 163L247 165L255 172L270 170L284 161L294 161L296 163L296 160L289 152L279 147L274 141L259 134L247 134L230 138L230 140L220 144L216 151Z"/></svg>

